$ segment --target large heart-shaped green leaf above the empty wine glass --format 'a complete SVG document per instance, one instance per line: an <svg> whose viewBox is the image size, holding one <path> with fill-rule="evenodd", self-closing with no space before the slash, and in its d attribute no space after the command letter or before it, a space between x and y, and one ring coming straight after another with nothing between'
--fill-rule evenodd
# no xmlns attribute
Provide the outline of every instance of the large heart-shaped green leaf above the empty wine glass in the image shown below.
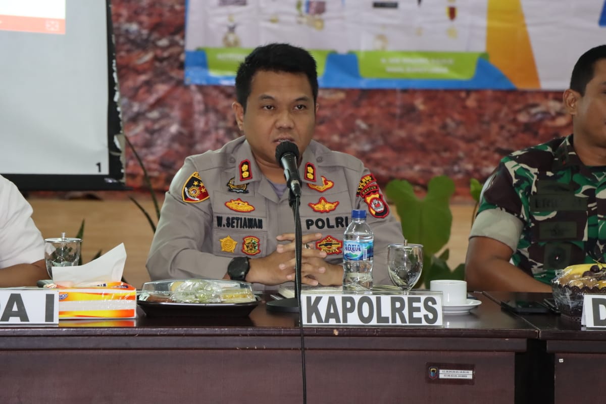
<svg viewBox="0 0 606 404"><path fill-rule="evenodd" d="M391 180L385 187L400 216L402 234L408 242L422 244L428 256L438 253L450 238L453 193L454 182L447 176L432 178L423 199L406 180Z"/></svg>

